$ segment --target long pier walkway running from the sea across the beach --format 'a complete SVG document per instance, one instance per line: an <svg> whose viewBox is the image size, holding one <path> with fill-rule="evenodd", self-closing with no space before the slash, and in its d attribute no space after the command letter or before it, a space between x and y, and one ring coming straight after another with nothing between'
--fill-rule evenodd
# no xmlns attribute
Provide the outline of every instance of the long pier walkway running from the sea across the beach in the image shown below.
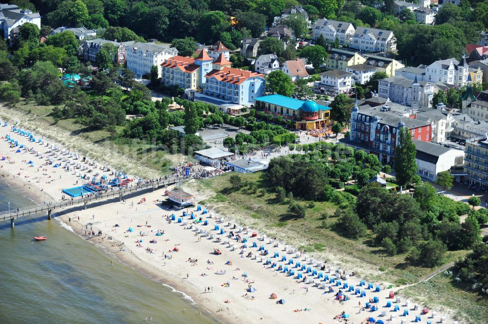
<svg viewBox="0 0 488 324"><path fill-rule="evenodd" d="M119 197L119 201L122 201L124 199L123 197L125 195L139 192L139 191L144 191L148 189L152 189L155 191L156 189L159 189L160 187L163 186L170 186L178 182L183 182L187 180L187 177L171 177L167 179L162 179L162 180L153 180L144 184L136 184L132 185L128 188L125 189L118 189L118 190L113 190L113 191L107 191L107 192L100 192L99 194L92 195L92 196L86 196L83 198L76 198L73 200L66 200L66 201L61 201L61 202L54 202L54 203L49 203L45 205L34 205L34 206L27 206L27 207L22 207L18 209L11 209L11 210L6 210L0 212L0 222L5 221L5 220L10 220L11 226L14 227L14 220L22 217L22 216L28 216L28 215L34 215L34 214L40 214L40 213L47 213L47 218L51 219L51 214L53 210L60 210L60 209L65 209L73 206L80 206L83 205L85 209L90 208L89 205L97 202L100 203L102 201L107 200L109 198L114 198L114 197Z"/></svg>

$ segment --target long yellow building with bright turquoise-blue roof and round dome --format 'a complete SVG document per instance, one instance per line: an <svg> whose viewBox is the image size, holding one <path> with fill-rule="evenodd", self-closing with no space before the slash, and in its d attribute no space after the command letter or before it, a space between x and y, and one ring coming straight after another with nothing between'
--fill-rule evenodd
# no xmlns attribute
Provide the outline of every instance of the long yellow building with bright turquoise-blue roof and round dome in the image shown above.
<svg viewBox="0 0 488 324"><path fill-rule="evenodd" d="M297 130L325 129L330 123L330 107L314 101L290 98L284 95L265 95L254 98L254 108L266 114L291 120Z"/></svg>

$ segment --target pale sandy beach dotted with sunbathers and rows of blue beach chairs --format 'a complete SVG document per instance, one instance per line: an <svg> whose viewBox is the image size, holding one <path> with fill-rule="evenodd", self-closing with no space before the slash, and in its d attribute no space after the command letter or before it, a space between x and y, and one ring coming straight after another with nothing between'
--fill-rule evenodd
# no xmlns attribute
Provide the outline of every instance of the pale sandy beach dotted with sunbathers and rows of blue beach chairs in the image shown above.
<svg viewBox="0 0 488 324"><path fill-rule="evenodd" d="M61 189L76 185L79 179L73 171L53 168L53 165L42 166L47 151L45 142L44 145L33 143L25 136L14 134L10 126L1 127L0 136L7 134L18 140L20 145L33 147L44 156L40 158L24 150L16 153L18 147L10 148L2 138L0 153L9 158L0 161L0 174L19 183L22 181L23 187L42 193L46 201L59 200ZM27 164L29 161L33 162L33 167ZM203 214L204 206L198 211L196 208L168 210L160 203L163 199L164 191L158 190L59 217L75 233L113 253L114 261L126 263L155 281L184 292L224 323L359 324L373 317L384 323L391 318L389 323L400 324L402 320L404 323L413 322L416 316L421 317L422 323L437 323L441 316L447 318L447 323L452 323L444 311L431 319L432 310L421 315L422 305L407 305L405 299L400 297L397 300L398 296L388 298L395 288L390 289L387 284L371 283L372 288L368 288L367 278L347 277L351 269L322 264L322 260L313 260L311 256L286 246L285 242L264 237L263 232L253 235L252 229L241 228L213 210ZM200 200L203 199L195 198L195 201ZM202 222L207 221L208 224L195 224L189 216L183 217L183 211L193 212L195 220L202 218ZM171 220L172 215L174 220ZM89 237L86 230L95 234L101 231L102 235ZM234 235L229 237L231 231ZM239 240L236 240L236 235L239 235ZM150 243L151 240L156 240L156 243ZM268 251L267 255L261 255L261 246ZM216 255L214 248L219 248L222 254ZM293 264L289 264L290 260ZM297 267L298 263L300 267ZM293 270L294 274L285 272L285 267ZM299 273L303 278L297 279ZM344 279L340 279L341 275ZM360 286L362 280L364 285ZM255 290L249 289L251 286ZM353 286L353 291L348 291L350 286ZM377 286L379 291L375 292ZM355 294L357 288L360 294ZM348 300L336 300L339 290ZM365 296L361 296L363 291ZM272 293L276 294L276 299L270 298ZM371 307L363 309L374 297L378 297L379 302L370 306L375 305L378 310L371 311ZM285 304L277 303L281 299ZM388 302L391 305L388 306ZM398 311L394 310L396 306ZM404 310L408 310L407 316L401 316ZM196 310L186 312L189 323L198 322ZM347 322L345 318L335 319L343 312L349 315Z"/></svg>

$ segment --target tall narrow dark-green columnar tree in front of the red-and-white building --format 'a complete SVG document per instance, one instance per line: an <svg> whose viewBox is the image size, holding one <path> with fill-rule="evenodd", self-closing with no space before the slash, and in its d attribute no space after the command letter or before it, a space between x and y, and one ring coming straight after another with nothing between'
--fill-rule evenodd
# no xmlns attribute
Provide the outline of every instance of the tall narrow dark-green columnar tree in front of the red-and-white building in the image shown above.
<svg viewBox="0 0 488 324"><path fill-rule="evenodd" d="M415 160L417 150L412 141L412 135L407 127L403 127L398 132L400 136L399 144L395 149L395 172L399 185L405 186L414 181L417 175L417 163Z"/></svg>

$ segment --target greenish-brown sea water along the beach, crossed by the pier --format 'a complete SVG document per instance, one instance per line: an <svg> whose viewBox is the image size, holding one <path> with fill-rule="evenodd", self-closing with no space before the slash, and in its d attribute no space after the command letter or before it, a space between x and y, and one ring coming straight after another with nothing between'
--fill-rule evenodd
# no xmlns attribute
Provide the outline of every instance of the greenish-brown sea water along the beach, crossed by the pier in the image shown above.
<svg viewBox="0 0 488 324"><path fill-rule="evenodd" d="M8 202L33 204L0 179L0 210ZM219 323L172 287L111 266L110 254L70 229L45 216L19 218L14 229L0 222L0 324Z"/></svg>

